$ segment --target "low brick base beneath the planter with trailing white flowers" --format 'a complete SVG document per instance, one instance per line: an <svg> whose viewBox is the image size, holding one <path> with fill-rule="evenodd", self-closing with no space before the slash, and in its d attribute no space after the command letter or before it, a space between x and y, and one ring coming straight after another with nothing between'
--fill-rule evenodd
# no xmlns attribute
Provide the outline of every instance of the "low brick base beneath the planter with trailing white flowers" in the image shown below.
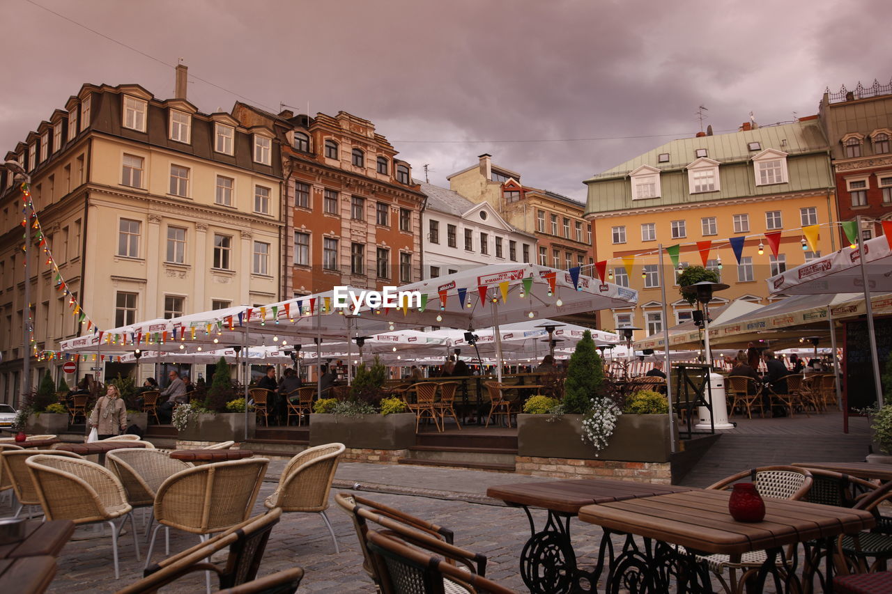
<svg viewBox="0 0 892 594"><path fill-rule="evenodd" d="M613 478L638 483L672 483L668 462L618 462L572 458L516 456L516 473L552 476L559 479Z"/></svg>

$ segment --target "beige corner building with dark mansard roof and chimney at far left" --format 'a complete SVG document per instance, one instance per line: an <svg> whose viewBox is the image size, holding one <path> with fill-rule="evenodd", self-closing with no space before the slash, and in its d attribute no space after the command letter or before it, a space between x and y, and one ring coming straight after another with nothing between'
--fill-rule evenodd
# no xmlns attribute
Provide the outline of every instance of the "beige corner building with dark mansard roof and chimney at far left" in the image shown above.
<svg viewBox="0 0 892 594"><path fill-rule="evenodd" d="M282 162L268 128L204 114L185 98L161 101L138 85L84 85L7 153L32 179L46 245L68 286L56 288L46 254L30 249L30 301L38 351L87 333L150 318L279 294ZM21 192L0 179L0 400L23 384ZM72 313L71 297L87 319ZM32 359L31 384L58 362ZM78 376L89 372L81 364ZM66 375L69 384L75 375Z"/></svg>

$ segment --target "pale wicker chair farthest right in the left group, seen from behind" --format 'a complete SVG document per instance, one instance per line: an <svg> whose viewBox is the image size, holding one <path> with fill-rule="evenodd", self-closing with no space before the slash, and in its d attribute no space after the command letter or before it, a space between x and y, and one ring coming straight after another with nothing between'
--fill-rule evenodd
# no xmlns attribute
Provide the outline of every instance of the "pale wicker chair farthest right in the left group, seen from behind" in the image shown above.
<svg viewBox="0 0 892 594"><path fill-rule="evenodd" d="M326 509L328 492L335 480L343 450L343 443L326 443L301 451L285 465L276 491L263 502L269 509L281 507L285 513L316 513L322 516L335 543L335 553L340 553L341 549L337 546L335 530L328 521Z"/></svg>

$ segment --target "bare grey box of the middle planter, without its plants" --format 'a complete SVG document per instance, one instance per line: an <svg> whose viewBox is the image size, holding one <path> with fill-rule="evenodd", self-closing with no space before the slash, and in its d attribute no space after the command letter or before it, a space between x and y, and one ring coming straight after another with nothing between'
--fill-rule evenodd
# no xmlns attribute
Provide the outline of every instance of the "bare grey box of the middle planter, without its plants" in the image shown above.
<svg viewBox="0 0 892 594"><path fill-rule="evenodd" d="M335 442L348 448L407 450L415 446L415 414L310 415L310 446Z"/></svg>

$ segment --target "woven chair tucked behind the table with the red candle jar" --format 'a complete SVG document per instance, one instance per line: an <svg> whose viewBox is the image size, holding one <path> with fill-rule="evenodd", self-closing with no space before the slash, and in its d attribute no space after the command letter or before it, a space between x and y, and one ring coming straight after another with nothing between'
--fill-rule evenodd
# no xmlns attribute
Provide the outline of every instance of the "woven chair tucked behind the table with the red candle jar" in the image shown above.
<svg viewBox="0 0 892 594"><path fill-rule="evenodd" d="M731 484L747 478L751 483L756 483L756 491L762 497L773 499L803 499L812 488L813 483L812 473L805 470L805 468L797 468L796 466L763 466L729 476L718 483L706 487L706 489L725 491ZM753 550L743 555L698 555L697 558L698 561L706 564L709 570L715 574L726 592L737 594L737 592L743 591L744 583L753 574L758 573L767 555L764 550ZM785 567L782 558L777 560L777 564L781 570ZM738 570L741 571L739 579L737 578ZM731 573L731 579L728 582L724 579L725 571Z"/></svg>

